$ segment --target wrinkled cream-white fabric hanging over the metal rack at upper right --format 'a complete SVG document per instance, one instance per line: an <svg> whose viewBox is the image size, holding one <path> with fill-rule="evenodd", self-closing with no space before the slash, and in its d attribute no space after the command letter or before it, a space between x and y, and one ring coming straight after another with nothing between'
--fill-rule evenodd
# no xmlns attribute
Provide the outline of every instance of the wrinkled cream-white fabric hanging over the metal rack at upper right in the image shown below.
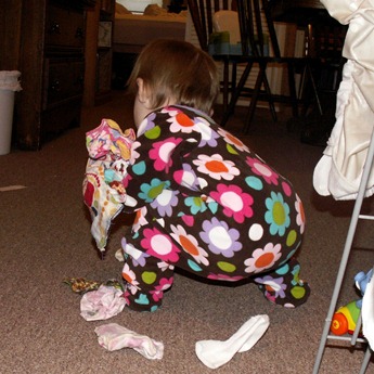
<svg viewBox="0 0 374 374"><path fill-rule="evenodd" d="M337 92L336 124L315 166L313 185L323 196L357 197L374 129L374 0L321 0L330 14L349 24L343 55L348 59ZM374 193L371 175L365 196Z"/></svg>

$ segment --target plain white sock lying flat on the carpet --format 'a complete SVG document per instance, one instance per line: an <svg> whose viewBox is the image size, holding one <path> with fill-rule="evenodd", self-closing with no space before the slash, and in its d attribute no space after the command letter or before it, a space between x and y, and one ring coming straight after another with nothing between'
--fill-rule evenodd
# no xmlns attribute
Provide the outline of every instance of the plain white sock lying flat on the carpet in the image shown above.
<svg viewBox="0 0 374 374"><path fill-rule="evenodd" d="M236 352L249 350L262 337L268 327L268 315L253 317L228 340L197 341L196 354L206 366L217 369L229 362Z"/></svg>

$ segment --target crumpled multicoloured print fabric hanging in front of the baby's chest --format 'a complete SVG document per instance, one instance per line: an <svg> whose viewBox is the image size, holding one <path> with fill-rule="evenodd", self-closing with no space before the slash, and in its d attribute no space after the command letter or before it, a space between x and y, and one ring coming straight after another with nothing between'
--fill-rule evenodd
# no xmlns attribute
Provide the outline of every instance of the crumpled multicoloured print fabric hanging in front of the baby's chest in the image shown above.
<svg viewBox="0 0 374 374"><path fill-rule="evenodd" d="M86 133L89 159L82 193L91 214L91 233L102 253L112 220L121 211L124 203L134 203L122 184L134 139L132 129L122 132L112 119L102 119L100 126Z"/></svg>

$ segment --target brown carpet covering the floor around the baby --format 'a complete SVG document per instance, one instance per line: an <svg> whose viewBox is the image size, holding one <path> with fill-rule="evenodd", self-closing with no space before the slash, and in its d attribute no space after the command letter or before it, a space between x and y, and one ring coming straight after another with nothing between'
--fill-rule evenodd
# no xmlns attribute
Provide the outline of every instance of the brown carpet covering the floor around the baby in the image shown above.
<svg viewBox="0 0 374 374"><path fill-rule="evenodd" d="M219 113L218 113L219 114ZM243 113L229 124L236 131ZM90 235L81 182L87 151L85 132L102 117L131 125L131 101L124 92L95 108L85 109L82 126L44 144L39 152L13 150L0 156L0 186L26 189L0 192L0 372L31 374L159 373L262 374L311 373L345 243L352 202L321 197L312 188L312 171L322 147L299 142L284 120L273 124L267 111L256 113L243 137L268 163L291 179L304 199L308 225L299 253L301 275L312 294L295 310L269 304L255 285L207 285L181 274L155 313L126 310L109 321L87 322L79 315L80 296L62 283L65 276L106 281L120 276L114 254L129 220L113 228L105 260ZM365 210L372 208L365 201ZM357 297L353 276L374 262L373 229L360 224L339 302ZM196 357L201 339L227 339L250 317L268 314L266 335L249 351L237 353L216 371ZM116 322L165 345L163 360L151 361L132 349L108 352L98 344L94 327ZM344 346L344 347L343 347ZM358 373L362 349L335 341L326 348L320 373ZM374 373L371 362L366 373Z"/></svg>

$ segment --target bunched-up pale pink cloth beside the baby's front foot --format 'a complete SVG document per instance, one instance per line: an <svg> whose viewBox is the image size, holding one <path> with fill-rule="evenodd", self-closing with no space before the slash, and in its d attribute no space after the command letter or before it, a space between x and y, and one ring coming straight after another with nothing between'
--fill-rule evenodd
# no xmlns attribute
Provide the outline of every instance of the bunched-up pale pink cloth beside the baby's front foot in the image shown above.
<svg viewBox="0 0 374 374"><path fill-rule="evenodd" d="M86 321L107 320L120 313L125 306L124 292L114 286L101 285L85 294L80 300L80 315Z"/></svg>

